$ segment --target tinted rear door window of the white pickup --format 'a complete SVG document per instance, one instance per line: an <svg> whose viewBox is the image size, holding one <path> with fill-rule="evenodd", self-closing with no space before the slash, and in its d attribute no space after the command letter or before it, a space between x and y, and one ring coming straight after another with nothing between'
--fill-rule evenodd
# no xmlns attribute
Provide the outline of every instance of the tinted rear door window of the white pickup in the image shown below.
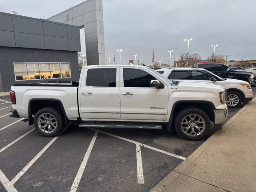
<svg viewBox="0 0 256 192"><path fill-rule="evenodd" d="M87 71L86 85L94 87L115 87L116 69L89 69Z"/></svg>

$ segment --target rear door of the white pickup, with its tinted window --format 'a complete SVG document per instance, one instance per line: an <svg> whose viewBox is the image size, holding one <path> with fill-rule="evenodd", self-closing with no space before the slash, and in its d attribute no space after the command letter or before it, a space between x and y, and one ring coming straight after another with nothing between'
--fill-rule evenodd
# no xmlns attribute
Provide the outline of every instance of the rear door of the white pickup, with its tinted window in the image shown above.
<svg viewBox="0 0 256 192"><path fill-rule="evenodd" d="M82 120L120 120L120 67L86 67L78 91Z"/></svg>

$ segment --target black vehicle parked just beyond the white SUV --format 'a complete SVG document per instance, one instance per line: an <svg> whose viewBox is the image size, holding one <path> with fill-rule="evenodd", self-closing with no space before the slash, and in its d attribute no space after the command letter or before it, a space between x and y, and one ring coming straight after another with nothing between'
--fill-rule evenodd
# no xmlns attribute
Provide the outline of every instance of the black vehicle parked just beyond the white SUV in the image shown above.
<svg viewBox="0 0 256 192"><path fill-rule="evenodd" d="M204 63L195 64L194 67L206 69L221 78L231 78L246 81L254 84L254 75L249 71L233 70L230 67L221 63Z"/></svg>

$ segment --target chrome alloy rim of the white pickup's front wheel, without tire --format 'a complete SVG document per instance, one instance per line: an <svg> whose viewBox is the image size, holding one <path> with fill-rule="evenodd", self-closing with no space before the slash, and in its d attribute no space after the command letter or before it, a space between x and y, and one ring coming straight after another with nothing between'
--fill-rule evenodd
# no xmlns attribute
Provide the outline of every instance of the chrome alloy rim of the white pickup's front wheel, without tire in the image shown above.
<svg viewBox="0 0 256 192"><path fill-rule="evenodd" d="M200 115L189 114L182 119L180 127L184 134L195 137L204 132L205 121Z"/></svg>

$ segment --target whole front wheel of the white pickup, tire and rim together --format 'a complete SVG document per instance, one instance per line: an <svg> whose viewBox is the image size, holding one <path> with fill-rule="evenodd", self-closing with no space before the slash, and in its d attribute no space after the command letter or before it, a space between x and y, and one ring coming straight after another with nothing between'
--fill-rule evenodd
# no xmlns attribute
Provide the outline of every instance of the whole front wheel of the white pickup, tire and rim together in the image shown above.
<svg viewBox="0 0 256 192"><path fill-rule="evenodd" d="M210 132L210 118L198 108L184 109L176 116L175 130L184 139L200 140Z"/></svg>

